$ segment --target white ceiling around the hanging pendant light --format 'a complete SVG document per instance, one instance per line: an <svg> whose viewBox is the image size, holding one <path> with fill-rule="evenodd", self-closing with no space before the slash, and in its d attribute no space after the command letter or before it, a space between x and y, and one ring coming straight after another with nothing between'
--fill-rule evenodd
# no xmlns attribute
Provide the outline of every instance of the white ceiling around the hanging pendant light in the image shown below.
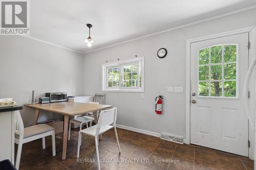
<svg viewBox="0 0 256 170"><path fill-rule="evenodd" d="M30 1L30 36L86 53L97 48L256 5L252 0ZM86 23L92 23L87 47Z"/></svg>

